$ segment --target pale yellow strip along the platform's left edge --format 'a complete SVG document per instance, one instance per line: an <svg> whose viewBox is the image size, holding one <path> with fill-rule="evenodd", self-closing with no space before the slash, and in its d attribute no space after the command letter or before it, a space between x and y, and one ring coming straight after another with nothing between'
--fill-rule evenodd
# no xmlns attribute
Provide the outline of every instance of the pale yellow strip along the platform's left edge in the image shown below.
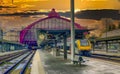
<svg viewBox="0 0 120 74"><path fill-rule="evenodd" d="M41 62L39 50L36 51L33 57L31 74L45 74L45 70Z"/></svg>

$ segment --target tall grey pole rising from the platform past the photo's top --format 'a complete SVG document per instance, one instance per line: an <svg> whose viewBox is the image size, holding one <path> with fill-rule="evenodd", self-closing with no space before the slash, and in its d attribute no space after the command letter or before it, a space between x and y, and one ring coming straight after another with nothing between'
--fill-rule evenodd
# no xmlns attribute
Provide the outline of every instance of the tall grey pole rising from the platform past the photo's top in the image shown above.
<svg viewBox="0 0 120 74"><path fill-rule="evenodd" d="M71 62L75 57L74 0L71 0Z"/></svg>

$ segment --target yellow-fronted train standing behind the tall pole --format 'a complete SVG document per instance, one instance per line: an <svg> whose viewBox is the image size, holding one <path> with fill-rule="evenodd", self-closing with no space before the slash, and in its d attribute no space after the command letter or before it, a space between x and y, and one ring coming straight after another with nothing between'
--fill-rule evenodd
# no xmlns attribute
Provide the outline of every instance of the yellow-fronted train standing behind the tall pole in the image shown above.
<svg viewBox="0 0 120 74"><path fill-rule="evenodd" d="M63 42L58 43L58 47L63 49ZM75 54L80 56L91 56L92 44L89 39L76 39L75 40ZM67 39L66 50L71 52L71 39Z"/></svg>

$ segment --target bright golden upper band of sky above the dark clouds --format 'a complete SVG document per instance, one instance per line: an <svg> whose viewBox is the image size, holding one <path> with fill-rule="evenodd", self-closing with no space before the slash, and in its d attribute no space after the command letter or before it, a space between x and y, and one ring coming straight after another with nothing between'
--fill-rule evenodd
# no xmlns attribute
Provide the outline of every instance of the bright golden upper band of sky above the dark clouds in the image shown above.
<svg viewBox="0 0 120 74"><path fill-rule="evenodd" d="M55 8L59 11L70 10L70 0L0 0L1 6L16 8L0 8L1 13L23 12L29 10L49 11ZM120 0L75 0L75 9L120 9Z"/></svg>

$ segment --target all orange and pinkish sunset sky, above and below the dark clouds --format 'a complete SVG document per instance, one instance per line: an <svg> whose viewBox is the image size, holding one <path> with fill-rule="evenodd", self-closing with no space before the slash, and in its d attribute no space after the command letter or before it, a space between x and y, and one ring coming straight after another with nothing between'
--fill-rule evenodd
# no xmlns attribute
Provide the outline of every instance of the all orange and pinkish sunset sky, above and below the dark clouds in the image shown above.
<svg viewBox="0 0 120 74"><path fill-rule="evenodd" d="M57 12L70 11L70 0L13 0L13 2L12 0L0 0L0 14L48 12L52 8L55 8ZM120 10L120 0L75 0L75 11L100 9ZM13 28L21 29L44 17L46 15L31 15L28 17L0 16L0 27L4 31ZM75 18L75 22L89 28L101 27L100 20ZM118 21L114 23L118 23Z"/></svg>

